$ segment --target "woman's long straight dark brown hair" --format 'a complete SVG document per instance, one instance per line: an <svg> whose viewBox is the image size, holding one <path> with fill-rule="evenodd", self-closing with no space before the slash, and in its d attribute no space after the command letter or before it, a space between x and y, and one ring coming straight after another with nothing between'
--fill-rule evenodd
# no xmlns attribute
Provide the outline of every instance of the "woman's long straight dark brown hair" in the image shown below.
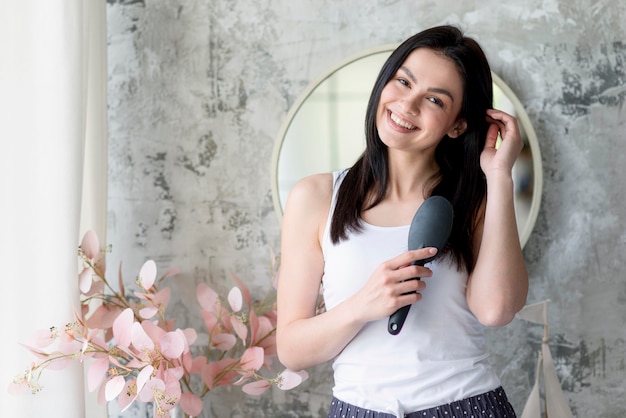
<svg viewBox="0 0 626 418"><path fill-rule="evenodd" d="M450 59L463 82L458 117L465 119L467 129L454 139L444 136L437 146L435 160L439 177L432 195L447 198L454 208L452 232L444 251L453 255L459 267L464 265L471 272L474 267L472 236L487 193L480 153L487 135L486 111L493 104L493 87L484 52L475 40L465 37L453 26L438 26L413 35L392 52L381 68L365 115L366 148L341 184L330 236L336 244L348 238L348 231L361 231L361 213L385 197L389 175L387 146L378 136L376 113L383 88L417 48L428 48Z"/></svg>

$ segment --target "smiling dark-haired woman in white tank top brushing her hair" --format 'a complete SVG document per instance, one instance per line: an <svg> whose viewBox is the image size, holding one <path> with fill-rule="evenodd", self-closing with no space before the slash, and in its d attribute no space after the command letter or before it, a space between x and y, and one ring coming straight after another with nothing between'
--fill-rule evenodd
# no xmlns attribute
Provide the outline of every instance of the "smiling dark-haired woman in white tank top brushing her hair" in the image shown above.
<svg viewBox="0 0 626 418"><path fill-rule="evenodd" d="M522 141L492 95L473 39L450 26L420 32L381 69L361 158L292 189L278 355L293 370L333 360L329 417L515 416L483 332L526 302L511 176ZM436 253L407 244L432 195L452 203L452 232L433 262L412 265ZM316 315L320 284L326 310ZM389 316L408 304L402 332L390 335Z"/></svg>

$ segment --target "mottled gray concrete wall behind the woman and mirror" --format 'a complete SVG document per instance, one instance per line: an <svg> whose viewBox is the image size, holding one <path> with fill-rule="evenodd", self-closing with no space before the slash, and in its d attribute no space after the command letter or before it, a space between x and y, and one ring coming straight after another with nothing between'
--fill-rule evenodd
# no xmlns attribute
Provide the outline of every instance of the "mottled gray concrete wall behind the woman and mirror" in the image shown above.
<svg viewBox="0 0 626 418"><path fill-rule="evenodd" d="M625 2L109 0L107 14L109 260L124 260L129 282L145 258L182 268L171 305L182 325L197 324L186 305L200 281L227 289L233 271L268 286L280 241L272 148L310 82L428 26L475 36L539 137L544 191L524 251L528 301L552 301L565 395L577 417L626 416ZM518 413L541 336L520 320L489 330ZM330 368L310 372L300 388L260 398L218 390L204 416L324 416Z"/></svg>

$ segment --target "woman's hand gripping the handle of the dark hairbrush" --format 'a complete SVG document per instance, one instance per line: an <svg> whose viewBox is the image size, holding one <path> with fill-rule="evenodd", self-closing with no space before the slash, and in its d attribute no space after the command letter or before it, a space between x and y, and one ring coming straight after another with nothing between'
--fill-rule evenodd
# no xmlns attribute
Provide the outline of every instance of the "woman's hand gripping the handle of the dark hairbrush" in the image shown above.
<svg viewBox="0 0 626 418"><path fill-rule="evenodd" d="M367 283L351 299L363 323L390 316L403 306L422 298L420 291L426 288L423 280L432 276L432 271L413 262L430 258L436 248L407 251L380 264Z"/></svg>

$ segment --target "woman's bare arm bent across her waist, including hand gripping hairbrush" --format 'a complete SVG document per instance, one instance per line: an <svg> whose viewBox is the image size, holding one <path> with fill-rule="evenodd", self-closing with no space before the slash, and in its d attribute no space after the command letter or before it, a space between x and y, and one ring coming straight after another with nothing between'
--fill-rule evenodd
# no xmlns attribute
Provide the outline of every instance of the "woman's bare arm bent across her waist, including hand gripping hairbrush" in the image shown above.
<svg viewBox="0 0 626 418"><path fill-rule="evenodd" d="M406 252L381 264L356 294L315 315L324 259L321 237L332 194L332 176L299 182L287 201L282 225L281 271L278 281L278 356L283 365L302 370L334 358L368 321L389 316L421 295L403 294L425 287L425 267L410 266L429 249Z"/></svg>

